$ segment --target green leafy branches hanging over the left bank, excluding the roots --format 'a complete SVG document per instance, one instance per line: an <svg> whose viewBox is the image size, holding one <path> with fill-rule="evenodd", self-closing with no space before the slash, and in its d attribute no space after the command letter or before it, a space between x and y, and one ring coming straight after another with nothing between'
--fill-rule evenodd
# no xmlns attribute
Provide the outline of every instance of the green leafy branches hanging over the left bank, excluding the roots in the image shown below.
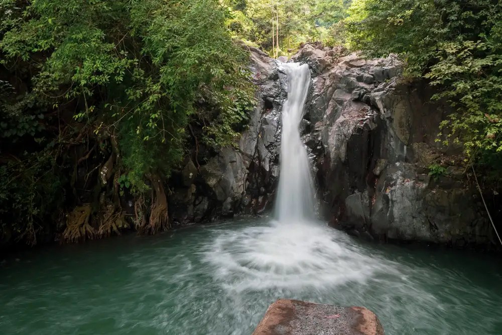
<svg viewBox="0 0 502 335"><path fill-rule="evenodd" d="M217 0L0 0L0 137L29 148L14 159L14 148L1 145L0 205L33 204L40 216L2 222L19 220L23 236L27 222L47 219L42 202L9 194L31 194L27 180L41 180L43 169L56 178L51 185L63 184L54 170L67 159L62 151L89 133L116 140L127 175L119 183L136 193L150 188L148 175L177 167L190 123L202 126L208 145L231 145L254 89L227 19ZM34 187L35 198L57 198L46 194L57 187Z"/></svg>

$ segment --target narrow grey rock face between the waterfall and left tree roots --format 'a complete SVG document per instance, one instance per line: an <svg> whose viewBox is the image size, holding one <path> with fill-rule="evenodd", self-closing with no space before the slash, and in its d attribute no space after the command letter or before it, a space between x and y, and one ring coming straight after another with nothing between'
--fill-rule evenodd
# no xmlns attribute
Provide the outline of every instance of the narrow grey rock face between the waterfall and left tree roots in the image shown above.
<svg viewBox="0 0 502 335"><path fill-rule="evenodd" d="M238 146L222 148L197 168L188 159L169 196L174 224L190 224L268 208L279 176L280 111L286 77L275 60L256 48L251 70L258 85L257 106ZM181 183L177 179L181 179ZM189 194L189 195L188 195Z"/></svg>

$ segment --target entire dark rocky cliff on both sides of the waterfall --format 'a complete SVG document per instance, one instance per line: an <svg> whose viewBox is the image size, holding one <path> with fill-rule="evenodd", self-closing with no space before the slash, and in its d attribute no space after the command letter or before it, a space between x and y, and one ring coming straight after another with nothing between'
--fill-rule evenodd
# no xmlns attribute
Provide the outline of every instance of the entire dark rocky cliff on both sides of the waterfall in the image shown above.
<svg viewBox="0 0 502 335"><path fill-rule="evenodd" d="M169 196L175 224L260 214L271 208L279 174L285 74L251 48L257 107L235 148L200 168L187 160ZM320 213L332 226L369 239L453 246L494 244L475 189L456 167L461 147L436 142L449 113L426 82L407 81L394 57L364 60L305 45L312 84L301 125L318 182ZM433 177L432 163L450 165Z"/></svg>

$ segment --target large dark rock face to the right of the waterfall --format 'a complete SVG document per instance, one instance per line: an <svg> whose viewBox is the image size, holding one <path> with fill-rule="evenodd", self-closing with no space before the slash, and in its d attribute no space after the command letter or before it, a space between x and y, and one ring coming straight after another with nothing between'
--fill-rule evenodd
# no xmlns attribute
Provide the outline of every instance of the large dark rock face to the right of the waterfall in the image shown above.
<svg viewBox="0 0 502 335"><path fill-rule="evenodd" d="M394 57L340 57L306 45L294 58L312 70L306 144L333 226L369 239L493 241L475 190L455 167L461 147L435 141L449 109L431 102L426 82L404 79ZM447 175L430 176L432 163L450 165Z"/></svg>

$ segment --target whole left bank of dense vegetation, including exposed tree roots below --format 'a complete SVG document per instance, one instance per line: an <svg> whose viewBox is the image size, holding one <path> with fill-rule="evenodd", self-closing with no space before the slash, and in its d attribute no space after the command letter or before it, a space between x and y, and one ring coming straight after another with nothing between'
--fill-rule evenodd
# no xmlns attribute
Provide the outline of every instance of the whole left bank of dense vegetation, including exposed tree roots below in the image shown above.
<svg viewBox="0 0 502 335"><path fill-rule="evenodd" d="M227 19L216 0L0 0L0 240L118 232L118 193L138 230L166 228L190 136L230 145L253 103Z"/></svg>

